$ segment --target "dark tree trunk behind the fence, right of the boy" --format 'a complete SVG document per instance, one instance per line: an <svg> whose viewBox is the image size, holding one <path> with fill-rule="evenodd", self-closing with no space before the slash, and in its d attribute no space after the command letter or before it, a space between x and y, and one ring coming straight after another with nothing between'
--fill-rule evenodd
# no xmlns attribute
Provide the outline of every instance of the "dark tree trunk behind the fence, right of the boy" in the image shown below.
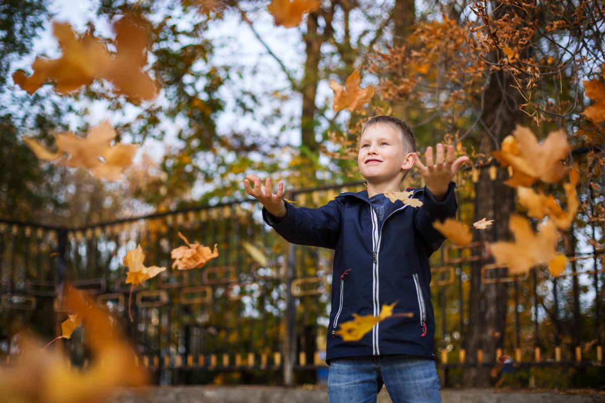
<svg viewBox="0 0 605 403"><path fill-rule="evenodd" d="M482 120L489 133L480 141L480 152L489 155L496 149L515 126L522 123L523 114L519 111L522 97L512 88L514 80L504 71L492 73L484 94ZM514 190L503 182L508 172L498 169L496 177L491 177L489 169L482 169L476 183L475 218L493 219L491 231L476 231L477 241L493 242L496 239L508 239L508 219L514 211ZM493 180L493 179L495 180ZM485 387L491 379L489 370L481 368L483 363L491 366L497 359L497 349L502 348L507 307L507 283L483 283L481 266L486 262L474 262L471 265L471 291L469 297L468 326L463 337L467 363L477 364L462 373L463 387ZM495 269L486 278L506 276L506 268Z"/></svg>

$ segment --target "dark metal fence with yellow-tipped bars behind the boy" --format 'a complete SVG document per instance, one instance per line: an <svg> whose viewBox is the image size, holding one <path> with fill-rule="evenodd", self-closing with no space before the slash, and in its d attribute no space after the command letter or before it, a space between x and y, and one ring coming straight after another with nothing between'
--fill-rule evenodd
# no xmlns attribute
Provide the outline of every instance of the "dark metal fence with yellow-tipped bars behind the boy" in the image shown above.
<svg viewBox="0 0 605 403"><path fill-rule="evenodd" d="M473 186L469 179L458 187L461 205L474 202ZM362 184L337 185L288 198L316 207L342 190L362 189ZM602 202L603 195L584 190L583 201ZM190 242L218 243L219 256L201 269L171 270L170 251L184 244L178 232ZM456 384L456 371L468 366L462 341L469 337L469 279L477 264L483 285L506 285L508 309L505 326L497 329L502 343L496 356L511 355L517 367L605 364L605 257L598 248L603 222L572 228L570 234L577 247L566 248L570 263L557 278L541 267L523 276L495 277L485 242L466 248L446 242L431 257L437 366L444 384ZM243 242L262 250L268 263L260 265ZM122 258L138 244L145 265L168 270L134 289L131 322ZM160 384L315 382L325 369L331 265L331 251L290 245L276 236L250 200L86 228L1 221L0 355L11 361L13 339L24 328L48 340L60 334L58 324L67 316L60 288L69 280L122 320L142 365ZM62 341L76 365L86 362L81 338L76 330ZM473 363L495 365L482 356Z"/></svg>

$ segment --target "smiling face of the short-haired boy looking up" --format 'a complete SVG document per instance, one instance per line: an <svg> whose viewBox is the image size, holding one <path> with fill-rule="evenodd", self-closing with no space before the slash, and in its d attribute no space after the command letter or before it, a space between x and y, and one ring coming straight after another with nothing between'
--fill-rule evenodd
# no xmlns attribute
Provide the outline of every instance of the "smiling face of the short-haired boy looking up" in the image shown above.
<svg viewBox="0 0 605 403"><path fill-rule="evenodd" d="M402 150L401 137L387 124L367 127L359 141L359 172L372 183L387 183L410 169L408 156ZM408 166L409 165L409 166ZM399 189L393 189L399 190Z"/></svg>

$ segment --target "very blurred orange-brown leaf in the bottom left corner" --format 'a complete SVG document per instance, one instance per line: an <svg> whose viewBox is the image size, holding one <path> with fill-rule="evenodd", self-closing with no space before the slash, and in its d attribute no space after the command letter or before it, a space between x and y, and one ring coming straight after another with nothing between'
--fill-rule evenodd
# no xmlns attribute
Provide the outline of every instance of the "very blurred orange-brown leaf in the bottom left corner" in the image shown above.
<svg viewBox="0 0 605 403"><path fill-rule="evenodd" d="M101 403L117 387L139 387L148 382L137 365L134 350L125 342L109 315L70 289L68 309L82 312L90 366L71 366L62 349L41 349L25 339L14 365L0 368L0 396L6 403Z"/></svg>

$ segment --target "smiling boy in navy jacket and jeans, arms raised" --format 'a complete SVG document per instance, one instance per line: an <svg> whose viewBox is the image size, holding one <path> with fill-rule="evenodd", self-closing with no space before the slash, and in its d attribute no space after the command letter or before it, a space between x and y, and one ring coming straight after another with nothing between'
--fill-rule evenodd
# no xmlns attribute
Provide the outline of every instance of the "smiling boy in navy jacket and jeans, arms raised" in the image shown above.
<svg viewBox="0 0 605 403"><path fill-rule="evenodd" d="M446 156L441 144L436 149L436 161L428 147L422 164L410 127L377 116L365 123L359 143L357 162L367 190L341 193L317 209L294 208L282 199L282 182L272 193L269 178L264 186L254 175L244 180L246 192L263 204L264 220L286 240L335 250L326 354L331 403L376 402L383 384L395 403L440 402L428 257L444 238L431 224L456 213L451 179L468 157L454 161L453 146ZM385 198L386 190L399 191L414 164L426 185L412 197L422 206ZM395 301L394 315L413 317L387 318L359 341L334 334L352 314L377 316L382 305Z"/></svg>

